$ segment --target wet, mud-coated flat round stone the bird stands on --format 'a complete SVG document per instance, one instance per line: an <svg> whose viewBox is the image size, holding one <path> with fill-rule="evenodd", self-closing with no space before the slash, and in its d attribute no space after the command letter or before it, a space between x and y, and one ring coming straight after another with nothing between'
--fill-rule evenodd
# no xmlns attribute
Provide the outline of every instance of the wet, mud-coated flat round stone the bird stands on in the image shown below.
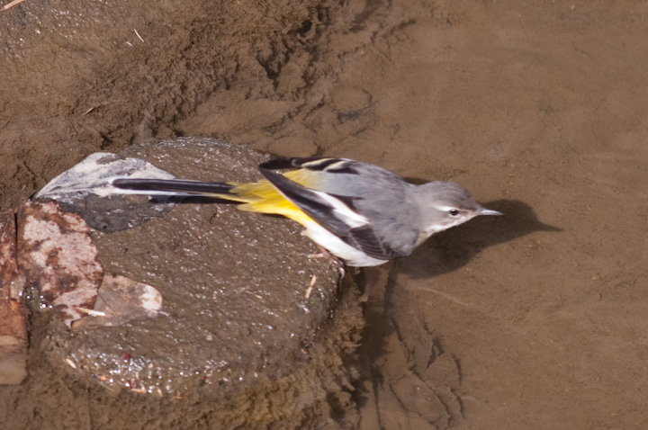
<svg viewBox="0 0 648 430"><path fill-rule="evenodd" d="M210 139L143 144L120 156L210 181L255 181L266 160ZM93 408L120 409L132 428L151 420L157 428L315 428L333 416L354 423L349 381L363 326L356 286L309 257L316 247L300 226L205 199L134 224L91 230L104 284L128 282L107 300L102 285L94 313L72 329L48 319L34 342L53 374L89 387ZM144 310L134 317L111 314L136 305ZM123 424L114 417L102 428Z"/></svg>

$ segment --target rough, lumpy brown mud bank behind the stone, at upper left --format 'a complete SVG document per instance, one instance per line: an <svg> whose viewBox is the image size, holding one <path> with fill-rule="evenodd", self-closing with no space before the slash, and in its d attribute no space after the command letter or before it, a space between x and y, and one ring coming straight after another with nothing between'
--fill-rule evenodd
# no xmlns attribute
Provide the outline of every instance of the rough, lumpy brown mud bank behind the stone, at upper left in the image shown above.
<svg viewBox="0 0 648 430"><path fill-rule="evenodd" d="M0 207L91 152L197 134L179 121L211 96L263 100L265 112L238 121L276 126L304 104L307 85L334 71L315 58L340 9L315 1L49 1L2 13L0 70L11 84L0 89Z"/></svg>

